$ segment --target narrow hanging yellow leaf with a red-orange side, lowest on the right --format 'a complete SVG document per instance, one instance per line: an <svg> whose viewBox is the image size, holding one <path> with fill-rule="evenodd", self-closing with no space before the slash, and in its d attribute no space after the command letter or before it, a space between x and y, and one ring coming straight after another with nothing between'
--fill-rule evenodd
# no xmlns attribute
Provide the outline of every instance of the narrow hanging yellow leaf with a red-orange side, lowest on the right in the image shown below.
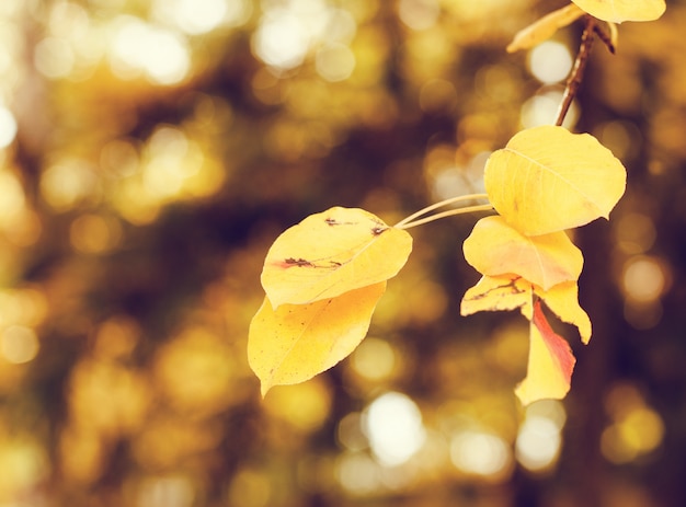
<svg viewBox="0 0 686 507"><path fill-rule="evenodd" d="M517 385L515 394L525 405L537 400L562 399L569 392L576 360L567 341L548 324L540 301L534 304L529 330L526 378Z"/></svg>

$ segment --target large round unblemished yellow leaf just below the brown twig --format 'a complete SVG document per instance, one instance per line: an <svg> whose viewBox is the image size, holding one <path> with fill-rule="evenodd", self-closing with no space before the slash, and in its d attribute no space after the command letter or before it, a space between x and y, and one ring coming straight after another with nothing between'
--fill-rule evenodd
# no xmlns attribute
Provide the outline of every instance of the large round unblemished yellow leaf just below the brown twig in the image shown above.
<svg viewBox="0 0 686 507"><path fill-rule="evenodd" d="M526 235L608 218L626 186L626 170L588 134L535 127L493 152L484 183L498 212Z"/></svg>

